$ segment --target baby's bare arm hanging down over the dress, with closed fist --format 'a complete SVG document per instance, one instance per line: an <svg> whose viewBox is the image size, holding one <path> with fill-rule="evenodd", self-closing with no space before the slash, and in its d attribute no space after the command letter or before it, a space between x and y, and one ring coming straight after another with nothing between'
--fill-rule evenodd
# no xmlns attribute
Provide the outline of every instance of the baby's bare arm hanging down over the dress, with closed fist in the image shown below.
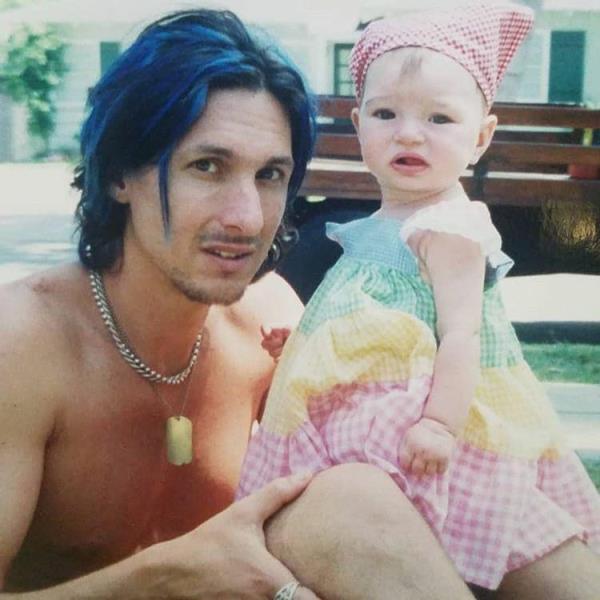
<svg viewBox="0 0 600 600"><path fill-rule="evenodd" d="M416 231L408 240L433 287L439 348L422 419L407 432L400 462L416 474L443 472L479 376L485 257L463 236Z"/></svg>

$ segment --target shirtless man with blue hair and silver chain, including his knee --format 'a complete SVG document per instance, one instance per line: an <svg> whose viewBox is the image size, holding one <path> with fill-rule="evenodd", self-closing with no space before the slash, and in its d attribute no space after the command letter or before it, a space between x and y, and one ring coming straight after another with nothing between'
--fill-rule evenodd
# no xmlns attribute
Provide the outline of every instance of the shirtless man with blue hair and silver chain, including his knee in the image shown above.
<svg viewBox="0 0 600 600"><path fill-rule="evenodd" d="M159 20L95 88L81 264L0 290L0 597L314 599L296 575L471 598L366 465L230 506L273 371L260 326L301 310L277 276L249 283L313 132L296 70L228 12Z"/></svg>

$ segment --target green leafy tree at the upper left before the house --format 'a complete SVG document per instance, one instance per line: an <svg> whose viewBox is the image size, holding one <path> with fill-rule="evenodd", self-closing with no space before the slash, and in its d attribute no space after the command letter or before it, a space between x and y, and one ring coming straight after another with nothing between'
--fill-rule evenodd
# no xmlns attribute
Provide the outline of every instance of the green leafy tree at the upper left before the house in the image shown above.
<svg viewBox="0 0 600 600"><path fill-rule="evenodd" d="M67 72L65 49L52 28L24 25L8 39L0 64L0 88L25 104L27 129L42 140L46 153L55 126L53 92Z"/></svg>

